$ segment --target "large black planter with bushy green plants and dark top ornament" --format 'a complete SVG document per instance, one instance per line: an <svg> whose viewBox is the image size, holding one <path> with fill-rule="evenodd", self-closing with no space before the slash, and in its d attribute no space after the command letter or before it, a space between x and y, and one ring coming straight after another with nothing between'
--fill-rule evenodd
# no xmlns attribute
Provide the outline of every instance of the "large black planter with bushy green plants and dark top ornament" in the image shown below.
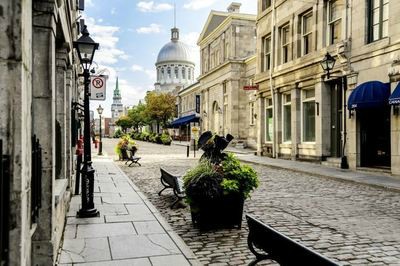
<svg viewBox="0 0 400 266"><path fill-rule="evenodd" d="M200 229L240 228L244 201L258 187L258 176L233 154L221 152L232 140L231 136L210 134L207 133L206 141L203 135L200 137L204 154L199 164L183 177L192 222Z"/></svg>

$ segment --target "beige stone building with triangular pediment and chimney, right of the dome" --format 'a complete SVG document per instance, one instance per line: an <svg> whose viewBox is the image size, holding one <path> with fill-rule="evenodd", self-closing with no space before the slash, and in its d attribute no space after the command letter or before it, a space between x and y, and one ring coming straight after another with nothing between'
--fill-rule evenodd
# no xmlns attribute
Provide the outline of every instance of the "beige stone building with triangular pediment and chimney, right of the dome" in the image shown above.
<svg viewBox="0 0 400 266"><path fill-rule="evenodd" d="M232 134L235 142L256 146L256 16L211 11L199 37L202 131Z"/></svg>

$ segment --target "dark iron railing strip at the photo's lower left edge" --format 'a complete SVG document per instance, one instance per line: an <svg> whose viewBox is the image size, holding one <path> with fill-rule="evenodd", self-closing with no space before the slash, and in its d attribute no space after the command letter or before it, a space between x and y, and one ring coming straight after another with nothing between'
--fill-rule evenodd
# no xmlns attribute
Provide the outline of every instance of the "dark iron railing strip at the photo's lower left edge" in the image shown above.
<svg viewBox="0 0 400 266"><path fill-rule="evenodd" d="M0 140L0 266L8 265L10 216L10 158Z"/></svg>

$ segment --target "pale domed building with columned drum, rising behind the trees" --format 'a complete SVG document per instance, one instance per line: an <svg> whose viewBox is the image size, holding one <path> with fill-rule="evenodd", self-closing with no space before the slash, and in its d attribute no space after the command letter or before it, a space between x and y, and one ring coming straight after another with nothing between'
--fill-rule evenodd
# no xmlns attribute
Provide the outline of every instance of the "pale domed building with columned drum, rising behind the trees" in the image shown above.
<svg viewBox="0 0 400 266"><path fill-rule="evenodd" d="M188 46L179 41L179 29L172 28L171 41L158 53L155 89L177 94L180 88L194 82L194 67Z"/></svg>

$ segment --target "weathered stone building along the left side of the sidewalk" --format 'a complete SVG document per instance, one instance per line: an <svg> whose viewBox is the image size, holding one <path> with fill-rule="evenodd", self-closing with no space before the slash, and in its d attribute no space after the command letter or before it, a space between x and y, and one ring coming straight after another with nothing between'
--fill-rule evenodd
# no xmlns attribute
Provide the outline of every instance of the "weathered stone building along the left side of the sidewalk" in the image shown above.
<svg viewBox="0 0 400 266"><path fill-rule="evenodd" d="M1 265L57 256L74 187L78 13L77 1L0 0Z"/></svg>

